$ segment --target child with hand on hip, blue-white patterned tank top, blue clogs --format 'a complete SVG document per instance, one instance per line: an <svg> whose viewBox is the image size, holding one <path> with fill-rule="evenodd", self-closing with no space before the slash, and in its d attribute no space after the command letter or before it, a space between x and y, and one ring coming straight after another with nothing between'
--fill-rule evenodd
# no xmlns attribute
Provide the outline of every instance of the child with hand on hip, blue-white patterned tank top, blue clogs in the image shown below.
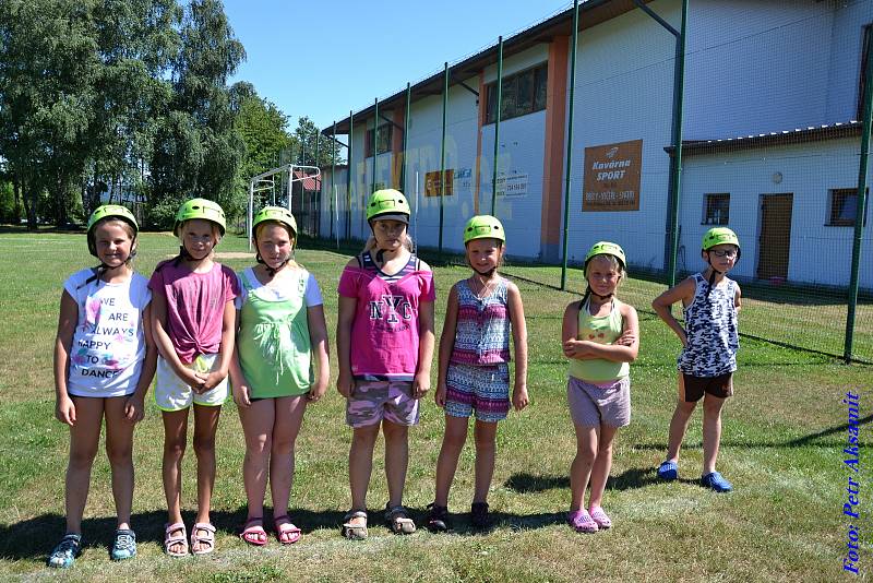
<svg viewBox="0 0 873 583"><path fill-rule="evenodd" d="M679 476L679 449L697 402L703 398L703 474L701 485L717 492L733 486L716 472L721 441L721 407L733 395L733 371L740 346L737 313L740 286L727 273L740 260L740 239L726 227L714 227L703 237L701 257L708 267L658 296L651 307L682 342L679 355L679 400L670 420L667 459L658 477L672 481ZM670 308L682 301L685 326Z"/></svg>

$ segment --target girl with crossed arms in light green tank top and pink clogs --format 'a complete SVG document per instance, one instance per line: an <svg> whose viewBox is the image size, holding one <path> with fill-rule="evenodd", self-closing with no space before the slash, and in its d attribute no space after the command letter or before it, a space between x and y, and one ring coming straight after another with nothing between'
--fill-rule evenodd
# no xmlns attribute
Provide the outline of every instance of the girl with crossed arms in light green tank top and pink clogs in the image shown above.
<svg viewBox="0 0 873 583"><path fill-rule="evenodd" d="M567 402L576 430L567 522L581 533L612 525L601 507L603 490L612 467L615 432L631 420L627 376L639 348L639 321L632 306L615 298L624 270L621 247L596 243L585 258L585 296L564 311L561 340L564 356L570 359ZM586 510L584 497L589 481Z"/></svg>

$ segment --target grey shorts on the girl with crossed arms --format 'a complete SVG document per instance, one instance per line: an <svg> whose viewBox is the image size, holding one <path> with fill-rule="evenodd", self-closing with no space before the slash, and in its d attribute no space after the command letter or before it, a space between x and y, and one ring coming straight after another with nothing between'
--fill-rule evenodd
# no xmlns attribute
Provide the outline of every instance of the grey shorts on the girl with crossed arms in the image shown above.
<svg viewBox="0 0 873 583"><path fill-rule="evenodd" d="M593 384L571 377L566 400L573 423L585 427L631 425L631 379Z"/></svg>

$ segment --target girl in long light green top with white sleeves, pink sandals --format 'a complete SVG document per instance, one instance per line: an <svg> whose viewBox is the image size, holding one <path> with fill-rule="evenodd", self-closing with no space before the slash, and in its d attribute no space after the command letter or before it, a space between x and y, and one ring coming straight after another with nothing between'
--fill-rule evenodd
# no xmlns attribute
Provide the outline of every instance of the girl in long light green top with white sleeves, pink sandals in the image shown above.
<svg viewBox="0 0 873 583"><path fill-rule="evenodd" d="M234 401L246 437L242 479L249 513L240 535L267 542L263 525L270 476L273 522L283 545L300 539L288 517L295 440L307 404L327 389L327 328L314 277L294 259L297 223L266 206L252 221L258 265L239 274L237 342L230 367Z"/></svg>

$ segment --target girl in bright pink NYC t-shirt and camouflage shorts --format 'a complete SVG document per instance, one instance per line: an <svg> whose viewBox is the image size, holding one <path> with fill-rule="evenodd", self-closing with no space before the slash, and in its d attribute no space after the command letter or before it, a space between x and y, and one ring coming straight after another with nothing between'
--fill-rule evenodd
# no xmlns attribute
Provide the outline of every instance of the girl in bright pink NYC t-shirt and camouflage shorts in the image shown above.
<svg viewBox="0 0 873 583"><path fill-rule="evenodd" d="M351 510L343 524L350 539L368 536L367 486L380 427L388 486L385 520L397 534L416 530L403 507L403 488L409 426L418 424L419 400L430 389L435 298L430 267L411 252L409 215L400 192L374 192L367 207L373 236L339 279L337 389L347 400L346 423L354 429Z"/></svg>

